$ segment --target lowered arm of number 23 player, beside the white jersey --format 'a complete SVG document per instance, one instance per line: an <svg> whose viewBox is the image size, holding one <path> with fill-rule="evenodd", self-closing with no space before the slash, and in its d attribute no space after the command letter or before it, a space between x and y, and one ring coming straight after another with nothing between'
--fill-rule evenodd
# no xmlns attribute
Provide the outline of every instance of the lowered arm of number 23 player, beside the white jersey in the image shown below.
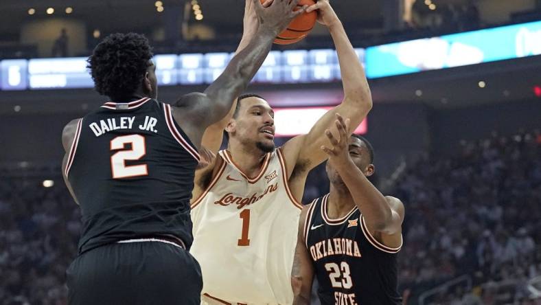
<svg viewBox="0 0 541 305"><path fill-rule="evenodd" d="M306 248L304 226L306 214L310 205L305 205L299 218L299 233L297 234L297 245L295 246L295 258L291 270L291 287L293 289L294 305L310 304L310 293L312 282L314 282L314 267L310 261L310 253Z"/></svg>

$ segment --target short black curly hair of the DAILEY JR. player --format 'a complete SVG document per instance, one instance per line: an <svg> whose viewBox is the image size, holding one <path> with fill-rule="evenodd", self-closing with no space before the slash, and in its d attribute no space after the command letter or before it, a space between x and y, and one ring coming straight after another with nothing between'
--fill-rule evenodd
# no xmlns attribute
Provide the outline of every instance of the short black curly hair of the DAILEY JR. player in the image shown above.
<svg viewBox="0 0 541 305"><path fill-rule="evenodd" d="M87 60L95 90L109 98L133 95L145 77L152 48L142 34L111 34Z"/></svg>

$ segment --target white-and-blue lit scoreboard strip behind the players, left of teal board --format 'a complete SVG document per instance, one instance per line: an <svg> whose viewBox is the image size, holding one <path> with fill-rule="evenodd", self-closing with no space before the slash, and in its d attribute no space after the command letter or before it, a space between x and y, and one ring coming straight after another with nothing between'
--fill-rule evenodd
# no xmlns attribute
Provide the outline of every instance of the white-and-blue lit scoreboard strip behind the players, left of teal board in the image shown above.
<svg viewBox="0 0 541 305"><path fill-rule="evenodd" d="M364 54L364 49L356 49ZM159 54L152 60L160 86L211 84L233 53ZM359 57L364 60L364 56ZM271 51L252 82L262 84L334 82L340 80L334 49ZM1 60L0 89L91 88L86 57Z"/></svg>

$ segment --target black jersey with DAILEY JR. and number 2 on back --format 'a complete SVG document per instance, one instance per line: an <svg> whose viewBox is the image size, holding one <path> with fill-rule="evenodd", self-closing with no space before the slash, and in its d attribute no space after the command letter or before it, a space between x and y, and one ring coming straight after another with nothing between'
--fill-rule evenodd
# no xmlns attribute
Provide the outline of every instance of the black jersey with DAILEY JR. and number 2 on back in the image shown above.
<svg viewBox="0 0 541 305"><path fill-rule="evenodd" d="M82 210L79 253L156 235L175 236L189 248L198 160L168 104L107 102L85 115L65 168Z"/></svg>

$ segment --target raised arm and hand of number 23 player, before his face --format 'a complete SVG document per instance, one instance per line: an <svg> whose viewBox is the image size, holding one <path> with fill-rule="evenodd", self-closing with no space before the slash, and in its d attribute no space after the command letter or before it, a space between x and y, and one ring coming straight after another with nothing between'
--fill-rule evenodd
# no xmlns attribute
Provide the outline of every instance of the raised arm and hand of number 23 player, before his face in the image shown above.
<svg viewBox="0 0 541 305"><path fill-rule="evenodd" d="M330 145L321 146L321 150L329 156L330 165L338 172L352 194L355 205L359 208L371 234L376 231L386 234L393 239L390 240L391 246L400 245L404 221L402 201L391 196L383 196L355 163L354 158L360 159L362 156L362 147L349 140L351 138L347 132L349 120L344 120L337 114L334 123L338 136L335 137L327 129L325 135ZM372 164L369 164L369 167L373 170ZM386 243L388 240L383 241Z"/></svg>

